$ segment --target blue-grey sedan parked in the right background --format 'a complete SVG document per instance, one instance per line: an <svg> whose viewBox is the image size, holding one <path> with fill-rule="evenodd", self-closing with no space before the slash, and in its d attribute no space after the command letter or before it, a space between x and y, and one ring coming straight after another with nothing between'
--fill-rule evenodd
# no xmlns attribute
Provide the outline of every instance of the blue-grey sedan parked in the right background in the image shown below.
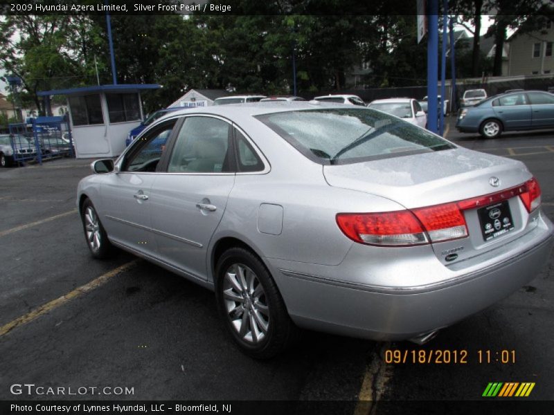
<svg viewBox="0 0 554 415"><path fill-rule="evenodd" d="M456 129L496 138L502 131L554 128L554 94L522 91L495 95L458 111Z"/></svg>

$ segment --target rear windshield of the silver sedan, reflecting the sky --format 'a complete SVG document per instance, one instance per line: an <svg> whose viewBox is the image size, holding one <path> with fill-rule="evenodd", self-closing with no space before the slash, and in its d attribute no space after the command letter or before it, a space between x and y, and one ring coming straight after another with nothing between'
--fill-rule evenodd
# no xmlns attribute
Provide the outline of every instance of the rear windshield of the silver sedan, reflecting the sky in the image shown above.
<svg viewBox="0 0 554 415"><path fill-rule="evenodd" d="M425 129L373 109L287 111L256 118L307 158L326 165L455 148Z"/></svg>

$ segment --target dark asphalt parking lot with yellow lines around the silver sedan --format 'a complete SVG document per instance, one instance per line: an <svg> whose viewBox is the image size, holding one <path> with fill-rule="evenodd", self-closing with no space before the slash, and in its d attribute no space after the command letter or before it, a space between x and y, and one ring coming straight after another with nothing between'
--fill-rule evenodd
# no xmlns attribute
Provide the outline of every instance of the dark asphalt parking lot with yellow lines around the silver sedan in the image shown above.
<svg viewBox="0 0 554 415"><path fill-rule="evenodd" d="M453 124L445 135L458 145L526 163L554 220L553 131L483 140ZM127 388L116 398L132 400L347 400L347 412L364 414L379 413L371 400L480 399L488 382L535 382L528 399L554 399L553 257L528 286L423 346L305 333L260 362L235 349L213 293L125 252L91 258L75 209L89 163L0 170L0 399L69 399L10 390L33 383ZM396 350L467 359L387 362Z"/></svg>

